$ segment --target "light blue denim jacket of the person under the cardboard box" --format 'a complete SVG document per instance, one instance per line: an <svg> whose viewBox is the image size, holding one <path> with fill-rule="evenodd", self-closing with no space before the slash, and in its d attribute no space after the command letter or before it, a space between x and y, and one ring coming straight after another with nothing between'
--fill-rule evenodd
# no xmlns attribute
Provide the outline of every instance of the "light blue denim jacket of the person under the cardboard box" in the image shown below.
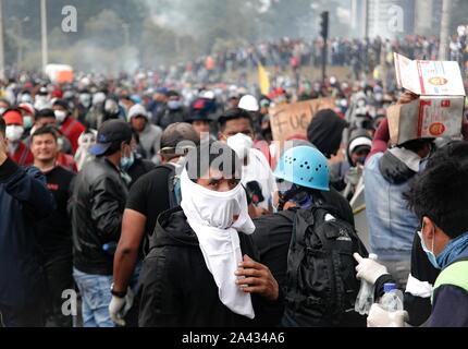
<svg viewBox="0 0 468 349"><path fill-rule="evenodd" d="M419 227L416 215L408 208L403 193L409 190L411 178L403 163L387 164L382 170L384 153L373 155L366 164L365 195L371 251L382 261L410 260L415 232ZM421 164L422 169L423 165Z"/></svg>

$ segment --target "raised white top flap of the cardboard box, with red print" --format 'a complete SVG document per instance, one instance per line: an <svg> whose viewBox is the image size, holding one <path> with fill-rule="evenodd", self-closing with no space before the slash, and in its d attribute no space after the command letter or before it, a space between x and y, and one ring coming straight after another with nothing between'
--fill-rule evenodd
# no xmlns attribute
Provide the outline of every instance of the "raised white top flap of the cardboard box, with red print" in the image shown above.
<svg viewBox="0 0 468 349"><path fill-rule="evenodd" d="M412 61L402 55L394 55L399 88L422 96L465 96L461 71L457 62Z"/></svg>

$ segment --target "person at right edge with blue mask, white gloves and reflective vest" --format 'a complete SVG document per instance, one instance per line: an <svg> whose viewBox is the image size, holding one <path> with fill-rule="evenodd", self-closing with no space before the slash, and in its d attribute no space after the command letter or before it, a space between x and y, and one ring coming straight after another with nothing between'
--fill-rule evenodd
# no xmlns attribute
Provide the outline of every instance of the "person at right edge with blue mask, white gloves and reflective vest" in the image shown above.
<svg viewBox="0 0 468 349"><path fill-rule="evenodd" d="M414 269L422 269L426 275L434 275L433 269L442 269L441 274L435 274L435 282L431 285L417 285L414 281L410 286L408 282L405 309L408 310L409 317L403 311L391 314L374 304L369 313L369 326L403 326L405 320L414 324L415 318L419 320L426 313L424 303L429 301L432 303L432 313L427 322L428 326L468 325L468 312L464 306L468 301L464 272L468 255L465 218L467 207L464 200L467 188L467 149L466 142L454 142L438 151L428 161L426 170L411 181L406 193L411 209L421 220L418 241L415 240L418 243L412 249L411 274ZM375 294L381 297L382 282L392 281L392 276L374 261L361 260L358 255L356 258L359 261L358 277L375 284ZM415 290L419 290L418 303L410 293ZM427 318L428 316L419 321L419 324Z"/></svg>

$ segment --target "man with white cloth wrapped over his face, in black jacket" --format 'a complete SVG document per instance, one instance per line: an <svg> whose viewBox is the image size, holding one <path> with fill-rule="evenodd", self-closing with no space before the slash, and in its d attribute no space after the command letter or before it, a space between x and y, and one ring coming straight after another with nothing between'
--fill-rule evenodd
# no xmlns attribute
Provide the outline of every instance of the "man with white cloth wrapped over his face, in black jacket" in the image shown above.
<svg viewBox="0 0 468 349"><path fill-rule="evenodd" d="M256 262L242 165L220 142L202 143L181 174L182 207L158 218L145 260L139 326L274 326L282 294Z"/></svg>

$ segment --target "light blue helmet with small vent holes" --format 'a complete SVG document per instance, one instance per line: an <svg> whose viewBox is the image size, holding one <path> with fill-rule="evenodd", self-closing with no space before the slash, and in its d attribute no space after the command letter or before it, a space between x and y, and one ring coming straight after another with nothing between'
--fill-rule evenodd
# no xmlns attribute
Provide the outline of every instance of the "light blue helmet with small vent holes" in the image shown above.
<svg viewBox="0 0 468 349"><path fill-rule="evenodd" d="M285 152L273 174L296 185L330 191L327 158L311 146L297 146Z"/></svg>

